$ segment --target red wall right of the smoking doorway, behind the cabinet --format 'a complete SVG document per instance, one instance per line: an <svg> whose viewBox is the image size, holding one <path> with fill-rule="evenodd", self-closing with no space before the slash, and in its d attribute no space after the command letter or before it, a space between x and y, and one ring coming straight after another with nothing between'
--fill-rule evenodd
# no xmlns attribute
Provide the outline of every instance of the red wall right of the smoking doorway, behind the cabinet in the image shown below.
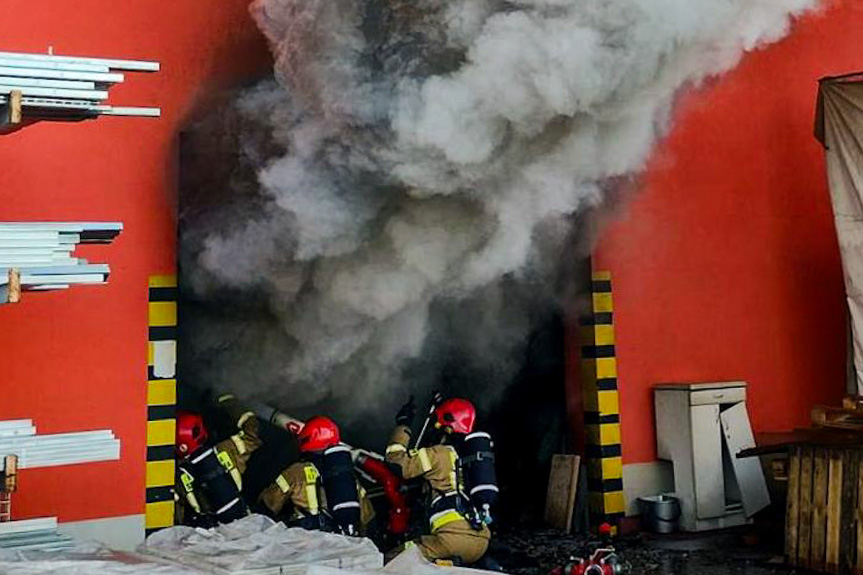
<svg viewBox="0 0 863 575"><path fill-rule="evenodd" d="M863 6L835 2L682 98L643 189L604 233L623 457L655 459L651 387L743 379L756 431L844 391L844 290L817 80L863 69Z"/></svg>

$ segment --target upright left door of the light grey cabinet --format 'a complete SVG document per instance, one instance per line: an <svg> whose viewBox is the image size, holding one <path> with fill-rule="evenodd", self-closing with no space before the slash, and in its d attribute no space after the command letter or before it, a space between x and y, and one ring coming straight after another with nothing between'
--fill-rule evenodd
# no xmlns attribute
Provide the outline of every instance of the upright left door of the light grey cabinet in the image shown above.
<svg viewBox="0 0 863 575"><path fill-rule="evenodd" d="M725 515L725 479L722 476L719 405L695 405L689 409L696 515L699 519L722 517Z"/></svg>

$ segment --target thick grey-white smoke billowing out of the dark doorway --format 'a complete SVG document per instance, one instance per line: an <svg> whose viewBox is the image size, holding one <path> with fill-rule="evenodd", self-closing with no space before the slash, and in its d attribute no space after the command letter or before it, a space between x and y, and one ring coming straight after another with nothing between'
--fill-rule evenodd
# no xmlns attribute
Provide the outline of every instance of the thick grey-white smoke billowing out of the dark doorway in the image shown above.
<svg viewBox="0 0 863 575"><path fill-rule="evenodd" d="M256 0L277 83L235 111L259 187L184 235L218 302L189 323L196 376L354 415L411 362L505 378L574 216L643 168L681 89L815 4Z"/></svg>

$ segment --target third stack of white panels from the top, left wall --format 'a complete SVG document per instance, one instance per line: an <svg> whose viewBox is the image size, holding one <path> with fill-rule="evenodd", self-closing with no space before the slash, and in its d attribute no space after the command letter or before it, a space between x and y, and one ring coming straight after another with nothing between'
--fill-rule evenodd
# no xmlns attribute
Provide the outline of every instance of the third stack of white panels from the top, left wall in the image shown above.
<svg viewBox="0 0 863 575"><path fill-rule="evenodd" d="M113 461L120 440L110 429L36 435L30 419L0 421L0 471L6 455L17 455L20 469Z"/></svg>

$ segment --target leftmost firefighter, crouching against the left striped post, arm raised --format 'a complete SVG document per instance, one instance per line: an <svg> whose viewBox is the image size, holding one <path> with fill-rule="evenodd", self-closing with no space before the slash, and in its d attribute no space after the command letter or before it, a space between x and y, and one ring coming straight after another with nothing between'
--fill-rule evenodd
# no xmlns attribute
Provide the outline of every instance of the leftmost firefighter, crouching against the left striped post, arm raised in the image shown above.
<svg viewBox="0 0 863 575"><path fill-rule="evenodd" d="M233 395L223 395L218 402L236 423L237 433L215 445L200 414L177 412L178 523L212 526L249 513L241 495L242 476L249 457L262 445L258 420Z"/></svg>

